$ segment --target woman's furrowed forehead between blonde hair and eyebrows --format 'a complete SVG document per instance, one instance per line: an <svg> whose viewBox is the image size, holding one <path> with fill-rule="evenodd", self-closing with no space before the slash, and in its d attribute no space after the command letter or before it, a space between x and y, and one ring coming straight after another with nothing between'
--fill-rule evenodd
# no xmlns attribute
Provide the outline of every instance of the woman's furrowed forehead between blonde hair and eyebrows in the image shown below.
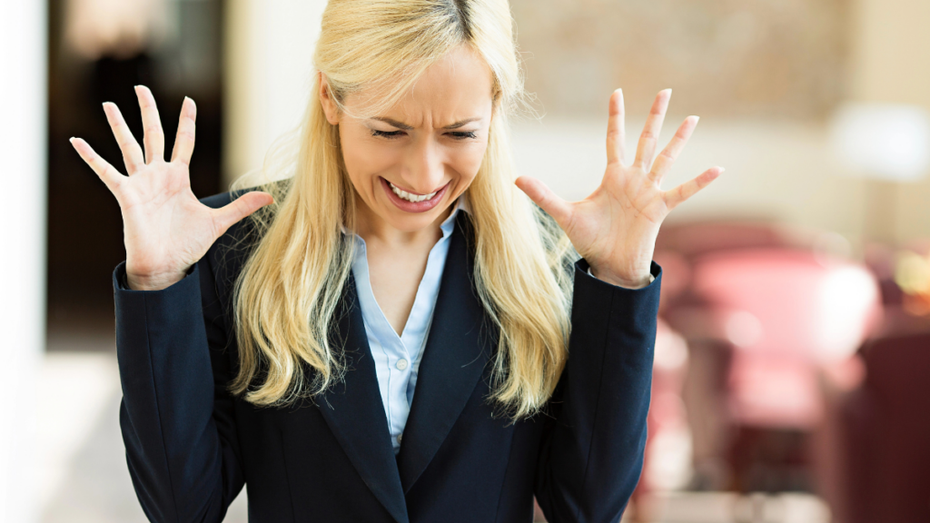
<svg viewBox="0 0 930 523"><path fill-rule="evenodd" d="M405 96L378 116L413 127L445 127L473 117L489 117L494 75L485 60L459 46L433 63Z"/></svg>

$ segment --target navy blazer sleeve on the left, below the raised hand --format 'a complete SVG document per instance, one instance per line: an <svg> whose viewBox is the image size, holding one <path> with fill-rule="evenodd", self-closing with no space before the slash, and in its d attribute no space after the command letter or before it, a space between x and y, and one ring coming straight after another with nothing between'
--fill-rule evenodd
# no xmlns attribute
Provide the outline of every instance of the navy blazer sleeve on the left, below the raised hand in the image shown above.
<svg viewBox="0 0 930 523"><path fill-rule="evenodd" d="M222 521L245 484L223 307L209 256L171 287L127 289L113 273L120 426L151 521Z"/></svg>

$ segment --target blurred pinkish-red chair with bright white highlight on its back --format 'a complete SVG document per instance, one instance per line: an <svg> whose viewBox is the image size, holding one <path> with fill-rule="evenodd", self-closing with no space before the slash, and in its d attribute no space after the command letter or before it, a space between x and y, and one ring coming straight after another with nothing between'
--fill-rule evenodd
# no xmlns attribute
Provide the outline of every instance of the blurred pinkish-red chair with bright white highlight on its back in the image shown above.
<svg viewBox="0 0 930 523"><path fill-rule="evenodd" d="M731 349L728 486L807 489L805 436L824 414L819 377L843 368L877 323L874 276L812 250L732 249L697 257L690 292L699 304L675 311L672 325L689 343Z"/></svg>

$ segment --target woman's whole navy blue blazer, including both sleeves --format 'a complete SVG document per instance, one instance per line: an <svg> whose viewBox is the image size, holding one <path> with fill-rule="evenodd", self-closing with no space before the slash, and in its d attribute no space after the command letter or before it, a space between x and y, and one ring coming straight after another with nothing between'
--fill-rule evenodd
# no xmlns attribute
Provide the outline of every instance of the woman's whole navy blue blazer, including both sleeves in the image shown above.
<svg viewBox="0 0 930 523"><path fill-rule="evenodd" d="M210 207L230 194L206 198ZM660 269L626 289L575 265L569 357L547 414L511 422L487 401L498 331L472 280L459 213L417 394L395 457L354 284L333 339L345 382L315 401L258 408L232 396L231 289L247 221L158 291L113 274L129 473L152 521L219 522L248 489L253 522L617 521L643 465Z"/></svg>

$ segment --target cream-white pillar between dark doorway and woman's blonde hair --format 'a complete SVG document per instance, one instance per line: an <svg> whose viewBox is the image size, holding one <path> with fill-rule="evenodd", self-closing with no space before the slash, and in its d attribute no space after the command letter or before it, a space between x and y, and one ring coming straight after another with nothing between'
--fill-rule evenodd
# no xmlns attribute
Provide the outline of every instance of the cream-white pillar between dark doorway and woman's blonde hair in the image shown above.
<svg viewBox="0 0 930 523"><path fill-rule="evenodd" d="M223 182L261 167L299 125L326 0L231 0L226 7Z"/></svg>

